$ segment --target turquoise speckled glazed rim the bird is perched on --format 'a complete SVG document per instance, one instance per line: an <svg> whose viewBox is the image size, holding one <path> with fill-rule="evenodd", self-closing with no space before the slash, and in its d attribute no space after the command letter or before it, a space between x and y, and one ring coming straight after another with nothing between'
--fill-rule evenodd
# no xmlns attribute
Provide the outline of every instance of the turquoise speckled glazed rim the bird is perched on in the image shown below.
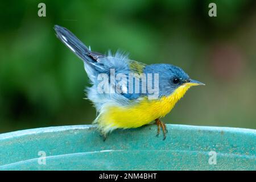
<svg viewBox="0 0 256 182"><path fill-rule="evenodd" d="M116 130L105 140L95 125L0 134L1 170L256 170L256 130L167 125ZM39 164L39 151L46 164ZM209 164L209 152L217 164Z"/></svg>

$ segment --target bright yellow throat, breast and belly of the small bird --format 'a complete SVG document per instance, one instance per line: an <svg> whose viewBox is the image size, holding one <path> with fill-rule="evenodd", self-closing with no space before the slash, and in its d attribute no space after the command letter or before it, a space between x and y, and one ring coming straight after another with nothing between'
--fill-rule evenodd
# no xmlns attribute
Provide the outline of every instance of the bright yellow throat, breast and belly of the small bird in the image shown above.
<svg viewBox="0 0 256 182"><path fill-rule="evenodd" d="M180 86L170 96L161 97L159 100L148 100L144 97L141 102L132 106L106 106L96 122L103 133L117 128L146 125L168 114L189 88L190 86Z"/></svg>

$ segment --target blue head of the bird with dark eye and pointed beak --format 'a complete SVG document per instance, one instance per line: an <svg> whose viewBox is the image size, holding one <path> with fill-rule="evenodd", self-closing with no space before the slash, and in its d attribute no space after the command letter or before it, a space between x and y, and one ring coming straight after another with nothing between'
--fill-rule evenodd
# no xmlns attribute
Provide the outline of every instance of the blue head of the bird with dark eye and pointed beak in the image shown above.
<svg viewBox="0 0 256 182"><path fill-rule="evenodd" d="M192 80L183 69L171 64L152 64L147 68L148 72L158 73L159 75L159 96L170 96L176 91L180 92L181 97L191 87L204 85L203 83Z"/></svg>

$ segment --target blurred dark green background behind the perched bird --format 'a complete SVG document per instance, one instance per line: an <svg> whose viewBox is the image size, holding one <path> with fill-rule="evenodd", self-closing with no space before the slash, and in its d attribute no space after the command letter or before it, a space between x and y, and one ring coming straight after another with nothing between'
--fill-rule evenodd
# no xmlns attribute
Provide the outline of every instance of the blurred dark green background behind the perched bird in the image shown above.
<svg viewBox="0 0 256 182"><path fill-rule="evenodd" d="M38 4L46 3L46 17ZM208 16L215 2L217 17ZM171 63L206 86L189 90L166 123L256 129L256 1L1 1L0 133L92 123L82 61L55 36L59 24L93 51L118 48Z"/></svg>

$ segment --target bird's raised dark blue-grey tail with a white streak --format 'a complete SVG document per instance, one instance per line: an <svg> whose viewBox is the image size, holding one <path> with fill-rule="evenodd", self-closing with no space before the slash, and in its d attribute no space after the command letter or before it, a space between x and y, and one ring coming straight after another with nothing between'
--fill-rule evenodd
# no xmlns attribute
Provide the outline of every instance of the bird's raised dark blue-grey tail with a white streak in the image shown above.
<svg viewBox="0 0 256 182"><path fill-rule="evenodd" d="M56 31L57 38L61 40L73 53L75 53L80 59L86 61L90 55L90 49L85 46L71 31L67 28L55 25L54 30ZM88 60L89 61L89 60Z"/></svg>

